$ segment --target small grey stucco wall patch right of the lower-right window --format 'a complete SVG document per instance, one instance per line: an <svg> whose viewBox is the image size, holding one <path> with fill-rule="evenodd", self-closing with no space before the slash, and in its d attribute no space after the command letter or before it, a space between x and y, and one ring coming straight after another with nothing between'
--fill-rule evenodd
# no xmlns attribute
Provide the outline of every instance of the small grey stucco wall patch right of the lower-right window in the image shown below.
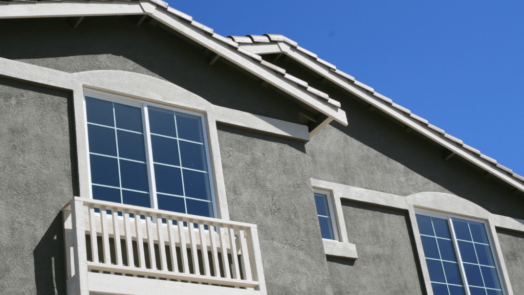
<svg viewBox="0 0 524 295"><path fill-rule="evenodd" d="M498 241L514 294L524 294L524 233L497 228Z"/></svg>

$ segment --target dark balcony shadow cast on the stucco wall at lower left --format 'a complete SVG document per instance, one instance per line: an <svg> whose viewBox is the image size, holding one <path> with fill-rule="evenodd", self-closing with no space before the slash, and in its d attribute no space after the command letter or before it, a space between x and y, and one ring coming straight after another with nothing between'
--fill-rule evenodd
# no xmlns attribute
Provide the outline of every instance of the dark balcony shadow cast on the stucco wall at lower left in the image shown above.
<svg viewBox="0 0 524 295"><path fill-rule="evenodd" d="M38 295L66 295L65 253L60 211L33 250Z"/></svg>

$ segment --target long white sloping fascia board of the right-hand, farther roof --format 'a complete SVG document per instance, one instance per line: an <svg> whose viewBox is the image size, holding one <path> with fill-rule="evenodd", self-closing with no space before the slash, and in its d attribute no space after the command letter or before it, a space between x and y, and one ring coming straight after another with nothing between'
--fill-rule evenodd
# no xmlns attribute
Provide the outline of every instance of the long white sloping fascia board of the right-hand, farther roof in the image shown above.
<svg viewBox="0 0 524 295"><path fill-rule="evenodd" d="M279 45L283 48L283 51L291 57L292 59L302 63L305 65L305 67L309 68L310 70L322 75L322 77L328 79L329 81L335 83L336 85L340 86L341 88L351 92L352 94L356 95L357 97L361 98L362 100L366 101L367 103L373 105L380 111L383 111L384 113L394 117L398 121L402 122L403 124L406 124L413 130L416 130L417 132L423 134L424 136L430 138L435 143L440 144L441 146L449 149L452 152L455 152L455 154L465 158L468 161L471 161L474 163L474 165L478 166L479 168L482 168L483 170L488 171L489 173L492 173L494 176L500 178L501 180L507 182L508 184L511 184L515 188L519 189L520 191L524 192L524 185L517 182L517 180L513 179L512 177L509 177L505 173L499 171L498 169L495 169L489 162L484 162L478 159L475 155L473 155L470 152L467 152L459 147L457 147L455 144L450 143L447 140L444 140L440 134L436 132L432 132L431 130L423 127L420 123L417 121L414 121L414 119L410 119L407 116L405 116L400 111L392 110L389 106L387 106L385 103L382 103L378 101L374 96L370 95L367 92L362 91L361 89L358 89L356 86L352 85L349 82L346 82L342 80L342 78L337 77L336 75L332 74L328 67L324 67L323 65L320 65L314 61L311 60L308 56L305 54L297 51L296 49L292 48L291 46L279 42ZM287 47L287 48L286 48Z"/></svg>

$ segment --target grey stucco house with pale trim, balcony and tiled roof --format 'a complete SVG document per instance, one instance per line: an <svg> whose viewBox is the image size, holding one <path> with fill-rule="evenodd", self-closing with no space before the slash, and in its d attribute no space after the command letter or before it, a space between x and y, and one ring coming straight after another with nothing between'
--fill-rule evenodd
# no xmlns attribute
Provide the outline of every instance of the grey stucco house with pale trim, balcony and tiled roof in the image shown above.
<svg viewBox="0 0 524 295"><path fill-rule="evenodd" d="M0 40L0 293L524 293L524 178L287 37L19 0Z"/></svg>

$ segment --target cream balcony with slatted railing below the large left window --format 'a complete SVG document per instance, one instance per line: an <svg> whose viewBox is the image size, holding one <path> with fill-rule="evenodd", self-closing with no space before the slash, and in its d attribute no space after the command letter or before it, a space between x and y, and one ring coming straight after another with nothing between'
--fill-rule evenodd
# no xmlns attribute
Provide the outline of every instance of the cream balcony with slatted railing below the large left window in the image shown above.
<svg viewBox="0 0 524 295"><path fill-rule="evenodd" d="M62 211L69 295L266 294L254 224L84 198Z"/></svg>

